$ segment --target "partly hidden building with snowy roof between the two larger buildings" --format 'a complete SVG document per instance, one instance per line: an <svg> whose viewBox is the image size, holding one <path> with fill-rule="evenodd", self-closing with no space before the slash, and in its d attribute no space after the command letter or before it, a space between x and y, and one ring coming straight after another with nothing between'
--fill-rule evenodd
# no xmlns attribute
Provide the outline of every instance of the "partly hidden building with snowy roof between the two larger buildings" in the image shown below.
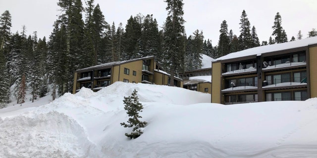
<svg viewBox="0 0 317 158"><path fill-rule="evenodd" d="M183 88L211 94L211 68L185 71L179 77Z"/></svg>

